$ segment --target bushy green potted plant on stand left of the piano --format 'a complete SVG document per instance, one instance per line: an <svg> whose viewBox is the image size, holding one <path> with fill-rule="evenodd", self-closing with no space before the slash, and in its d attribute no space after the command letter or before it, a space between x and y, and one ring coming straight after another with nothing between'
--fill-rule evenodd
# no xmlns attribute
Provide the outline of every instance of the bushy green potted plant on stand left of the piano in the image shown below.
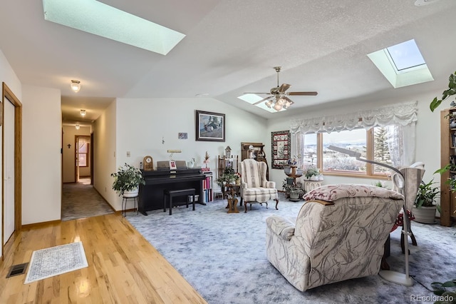
<svg viewBox="0 0 456 304"><path fill-rule="evenodd" d="M138 196L140 184L145 185L140 169L128 163L120 166L116 173L111 173L111 176L114 178L113 189L119 193L119 196Z"/></svg>

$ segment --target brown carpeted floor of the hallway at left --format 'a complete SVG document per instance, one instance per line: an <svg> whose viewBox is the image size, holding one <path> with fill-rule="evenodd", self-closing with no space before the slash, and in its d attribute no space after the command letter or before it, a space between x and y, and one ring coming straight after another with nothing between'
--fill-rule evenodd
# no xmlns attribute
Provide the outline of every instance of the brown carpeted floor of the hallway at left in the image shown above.
<svg viewBox="0 0 456 304"><path fill-rule="evenodd" d="M78 183L63 183L62 221L114 213L113 208L90 185L90 178Z"/></svg>

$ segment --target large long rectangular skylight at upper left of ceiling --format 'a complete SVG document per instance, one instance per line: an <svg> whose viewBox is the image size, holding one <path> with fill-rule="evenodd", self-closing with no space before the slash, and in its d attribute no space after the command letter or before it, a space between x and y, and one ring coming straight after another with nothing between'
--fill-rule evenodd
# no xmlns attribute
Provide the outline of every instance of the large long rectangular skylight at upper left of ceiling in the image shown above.
<svg viewBox="0 0 456 304"><path fill-rule="evenodd" d="M185 34L95 0L43 0L44 19L166 55Z"/></svg>

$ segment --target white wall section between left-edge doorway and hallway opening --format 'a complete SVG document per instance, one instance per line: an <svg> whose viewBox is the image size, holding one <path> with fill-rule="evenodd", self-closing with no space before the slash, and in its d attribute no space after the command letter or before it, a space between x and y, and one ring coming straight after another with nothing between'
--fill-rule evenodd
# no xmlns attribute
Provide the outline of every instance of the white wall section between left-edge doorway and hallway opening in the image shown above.
<svg viewBox="0 0 456 304"><path fill-rule="evenodd" d="M61 218L61 93L23 86L22 224Z"/></svg>

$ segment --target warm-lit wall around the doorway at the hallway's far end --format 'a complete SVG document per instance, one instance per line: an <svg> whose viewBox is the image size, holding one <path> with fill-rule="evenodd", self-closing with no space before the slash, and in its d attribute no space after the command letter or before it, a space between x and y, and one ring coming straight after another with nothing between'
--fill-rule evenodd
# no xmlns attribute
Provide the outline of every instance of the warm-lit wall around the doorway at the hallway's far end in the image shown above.
<svg viewBox="0 0 456 304"><path fill-rule="evenodd" d="M75 183L76 165L76 136L90 136L90 126L81 126L76 130L74 126L63 126L63 183ZM71 147L68 148L68 144ZM79 176L90 176L90 166L79 168Z"/></svg>

